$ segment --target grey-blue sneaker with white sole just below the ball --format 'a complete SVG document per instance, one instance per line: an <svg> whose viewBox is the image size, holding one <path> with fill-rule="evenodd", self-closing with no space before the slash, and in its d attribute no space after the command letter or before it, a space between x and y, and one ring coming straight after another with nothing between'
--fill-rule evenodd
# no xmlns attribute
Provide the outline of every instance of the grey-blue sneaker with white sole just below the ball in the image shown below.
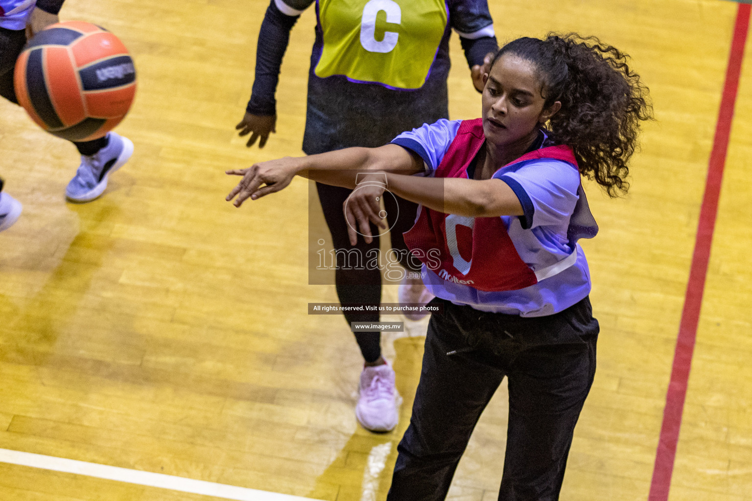
<svg viewBox="0 0 752 501"><path fill-rule="evenodd" d="M68 183L65 197L71 202L90 202L107 188L107 178L131 158L133 143L127 137L108 132L109 142L94 155L81 155L76 176Z"/></svg>

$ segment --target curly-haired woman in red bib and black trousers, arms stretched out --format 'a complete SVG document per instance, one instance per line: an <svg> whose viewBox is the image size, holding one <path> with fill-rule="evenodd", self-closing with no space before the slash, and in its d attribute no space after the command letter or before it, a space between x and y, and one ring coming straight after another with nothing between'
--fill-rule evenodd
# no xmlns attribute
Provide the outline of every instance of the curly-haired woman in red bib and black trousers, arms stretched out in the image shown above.
<svg viewBox="0 0 752 501"><path fill-rule="evenodd" d="M626 192L647 88L597 38L506 44L486 75L482 118L439 120L379 148L282 158L228 171L240 206L300 174L355 186L346 208L368 234L385 189L421 205L405 243L423 261L433 314L410 427L387 499L444 499L470 434L506 376L499 499L559 498L569 446L596 370L598 321L577 240L598 231L581 176ZM426 172L429 174L425 176ZM377 174L378 173L378 174ZM423 176L405 174L424 174ZM386 185L379 179L386 178ZM265 185L265 186L262 186ZM356 240L350 231L350 241ZM435 257L426 258L428 252Z"/></svg>

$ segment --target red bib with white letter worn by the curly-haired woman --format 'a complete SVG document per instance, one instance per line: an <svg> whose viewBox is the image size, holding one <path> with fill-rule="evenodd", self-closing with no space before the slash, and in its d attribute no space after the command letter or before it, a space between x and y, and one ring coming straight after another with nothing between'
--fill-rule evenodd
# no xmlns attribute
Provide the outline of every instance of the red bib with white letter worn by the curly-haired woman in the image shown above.
<svg viewBox="0 0 752 501"><path fill-rule="evenodd" d="M463 121L435 177L468 177L468 166L485 139L482 119ZM577 167L569 146L536 149L504 167L538 158L555 158ZM481 291L514 291L538 283L500 217L472 218L420 207L415 225L404 236L413 255L448 282Z"/></svg>

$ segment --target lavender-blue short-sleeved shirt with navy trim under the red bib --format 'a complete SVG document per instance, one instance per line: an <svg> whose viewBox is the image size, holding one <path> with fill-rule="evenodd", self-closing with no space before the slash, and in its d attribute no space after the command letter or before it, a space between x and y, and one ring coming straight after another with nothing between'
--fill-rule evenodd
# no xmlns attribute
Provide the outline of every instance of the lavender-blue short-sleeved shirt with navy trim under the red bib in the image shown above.
<svg viewBox="0 0 752 501"><path fill-rule="evenodd" d="M461 122L441 119L400 134L392 142L420 155L431 175L441 164ZM590 270L570 226L579 194L584 195L577 168L566 161L538 158L499 169L493 177L505 181L523 207L523 216L501 216L520 258L534 271L567 257L573 260L575 255L576 261L556 275L515 291L480 291L441 279L423 265L426 287L436 297L453 303L526 317L552 315L578 303L590 293ZM590 216L589 210L587 215Z"/></svg>

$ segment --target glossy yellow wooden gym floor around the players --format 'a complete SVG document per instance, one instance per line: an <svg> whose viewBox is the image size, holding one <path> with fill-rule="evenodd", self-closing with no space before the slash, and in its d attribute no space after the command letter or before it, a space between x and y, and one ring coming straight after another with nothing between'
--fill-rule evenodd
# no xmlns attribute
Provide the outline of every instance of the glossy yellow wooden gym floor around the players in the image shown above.
<svg viewBox="0 0 752 501"><path fill-rule="evenodd" d="M503 42L548 30L599 35L632 55L657 122L632 190L587 186L601 226L584 242L602 326L596 382L562 499L644 500L650 489L700 203L738 5L721 0L493 0ZM119 35L138 95L118 128L129 164L90 204L64 200L78 157L0 103L0 173L24 204L0 234L0 449L290 493L384 499L408 424L425 323L385 337L404 403L393 433L356 424L362 361L335 302L307 285L308 186L235 210L226 168L301 154L314 10L293 29L265 149L236 137L267 2L69 0L63 20ZM749 54L747 52L747 54ZM459 41L450 116L473 118ZM752 499L752 56L742 67L672 501ZM396 300L392 288L386 300ZM387 318L396 319L396 318ZM506 430L502 385L450 499L496 499ZM0 463L0 499L213 499ZM216 498L219 499L219 498ZM259 497L258 499L271 499Z"/></svg>

